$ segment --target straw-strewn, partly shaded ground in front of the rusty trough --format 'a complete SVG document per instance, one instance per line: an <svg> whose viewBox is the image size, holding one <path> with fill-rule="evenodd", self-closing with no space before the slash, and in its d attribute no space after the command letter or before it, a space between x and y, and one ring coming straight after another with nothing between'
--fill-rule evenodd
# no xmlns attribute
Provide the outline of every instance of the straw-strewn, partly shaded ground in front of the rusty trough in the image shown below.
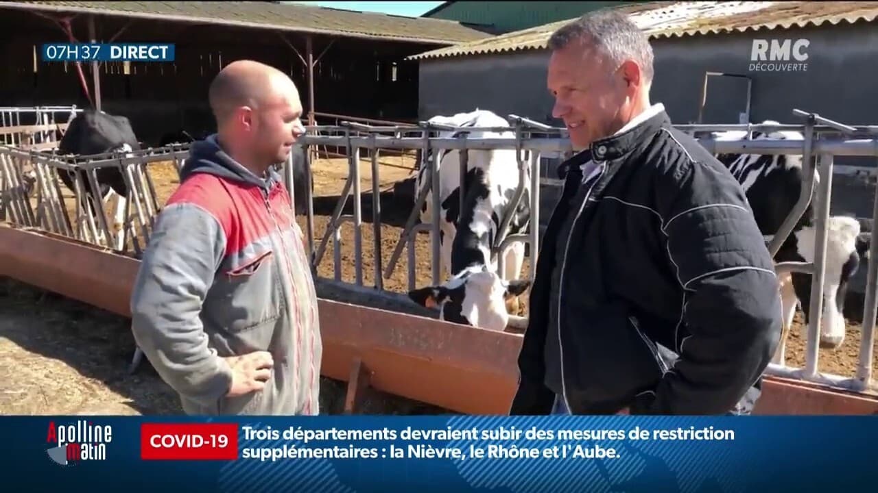
<svg viewBox="0 0 878 493"><path fill-rule="evenodd" d="M144 359L128 375L129 319L0 277L0 414L168 415L182 409ZM321 379L321 414L344 410L345 383ZM447 414L367 391L364 414Z"/></svg>

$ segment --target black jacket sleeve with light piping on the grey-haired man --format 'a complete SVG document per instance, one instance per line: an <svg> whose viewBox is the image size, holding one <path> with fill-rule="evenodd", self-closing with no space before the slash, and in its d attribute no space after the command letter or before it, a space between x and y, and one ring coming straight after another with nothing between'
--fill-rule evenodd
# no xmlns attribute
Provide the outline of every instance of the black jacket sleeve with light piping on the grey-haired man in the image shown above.
<svg viewBox="0 0 878 493"><path fill-rule="evenodd" d="M679 360L644 414L724 414L756 383L781 337L774 263L744 189L717 161L688 161L657 187L672 275L683 292Z"/></svg>

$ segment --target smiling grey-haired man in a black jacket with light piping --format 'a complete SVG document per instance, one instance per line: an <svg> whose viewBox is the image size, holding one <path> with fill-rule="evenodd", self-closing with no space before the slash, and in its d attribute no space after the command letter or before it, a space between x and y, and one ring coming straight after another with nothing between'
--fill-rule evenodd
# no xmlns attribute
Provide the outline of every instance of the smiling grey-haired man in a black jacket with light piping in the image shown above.
<svg viewBox="0 0 878 493"><path fill-rule="evenodd" d="M549 42L581 151L531 290L511 414L746 414L781 334L774 265L727 168L650 104L652 52L596 11Z"/></svg>

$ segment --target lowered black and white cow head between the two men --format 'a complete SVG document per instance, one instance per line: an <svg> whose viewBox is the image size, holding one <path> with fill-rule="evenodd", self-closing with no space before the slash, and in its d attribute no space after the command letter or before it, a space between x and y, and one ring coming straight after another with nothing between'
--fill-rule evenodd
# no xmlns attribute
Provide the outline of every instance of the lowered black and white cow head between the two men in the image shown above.
<svg viewBox="0 0 878 493"><path fill-rule="evenodd" d="M505 281L481 266L466 268L439 286L413 289L408 297L427 308L438 308L441 320L502 332L509 323L507 302L529 286L529 280Z"/></svg>

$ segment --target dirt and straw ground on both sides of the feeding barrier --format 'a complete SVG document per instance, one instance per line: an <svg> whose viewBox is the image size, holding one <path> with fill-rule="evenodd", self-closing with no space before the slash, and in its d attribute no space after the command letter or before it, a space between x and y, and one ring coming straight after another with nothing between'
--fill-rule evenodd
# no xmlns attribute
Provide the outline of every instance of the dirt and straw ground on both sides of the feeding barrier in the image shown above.
<svg viewBox="0 0 878 493"><path fill-rule="evenodd" d="M395 198L393 183L414 171L411 156L383 156L380 160L380 244L382 270L386 268L399 241L412 204ZM313 163L315 251L320 246L339 194L348 174L347 159L320 159ZM372 225L371 160L360 161L362 193L363 284L374 285L374 230ZM178 178L172 163L150 165L159 204L176 189ZM67 190L64 189L66 192ZM74 211L67 196L68 211ZM353 214L353 199L342 214ZM108 211L109 214L109 211ZM306 229L306 218L299 217ZM343 281L354 282L353 225L341 228ZM429 234L415 240L415 287L431 282ZM322 277L335 277L332 240L318 267ZM528 261L522 267L529 273ZM404 249L392 276L384 280L385 289L405 293L407 250ZM526 296L525 296L526 299ZM524 299L522 299L522 302ZM520 314L526 314L522 303ZM74 300L32 289L21 283L0 279L0 414L169 414L179 412L176 395L155 371L144 363L135 375L126 367L133 354L133 338L126 318L97 310ZM805 329L801 314L789 335L788 365L804 365ZM860 324L851 320L847 337L837 350L821 349L819 370L836 375L853 376L860 343ZM878 368L878 348L874 352ZM327 413L342 411L344 392L341 382L323 380L321 408ZM447 412L426 404L374 393L363 412L385 414L420 414Z"/></svg>

